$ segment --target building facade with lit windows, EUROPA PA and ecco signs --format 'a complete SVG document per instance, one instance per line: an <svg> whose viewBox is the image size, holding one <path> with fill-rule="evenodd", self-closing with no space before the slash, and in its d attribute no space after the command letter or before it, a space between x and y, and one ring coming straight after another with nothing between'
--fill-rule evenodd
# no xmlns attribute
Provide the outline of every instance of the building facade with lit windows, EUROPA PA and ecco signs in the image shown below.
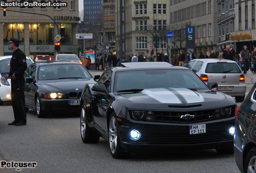
<svg viewBox="0 0 256 173"><path fill-rule="evenodd" d="M60 52L76 54L77 40L75 34L80 20L78 0L62 0L61 2L66 2L67 6L8 7L6 16L3 16L3 14L0 16L0 38L2 38L2 41L0 41L0 55L12 54L9 44L10 38L17 38L21 41L19 48L26 56L33 58L37 54L53 55L55 54L54 42L58 42L55 37L58 33L61 38L59 41L61 44ZM8 10L14 10L15 12ZM49 15L56 21L58 27L48 16L38 14Z"/></svg>

